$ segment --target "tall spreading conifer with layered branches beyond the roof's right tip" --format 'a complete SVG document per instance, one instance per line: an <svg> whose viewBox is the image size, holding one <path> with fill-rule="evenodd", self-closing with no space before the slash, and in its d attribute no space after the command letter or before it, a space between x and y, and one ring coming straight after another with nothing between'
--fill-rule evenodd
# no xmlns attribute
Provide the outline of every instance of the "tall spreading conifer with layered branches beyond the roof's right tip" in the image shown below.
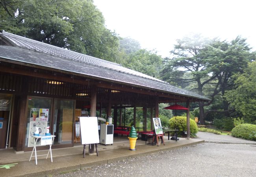
<svg viewBox="0 0 256 177"><path fill-rule="evenodd" d="M191 90L196 90L200 95L206 95L212 100L208 103L199 102L200 122L204 123L204 116L210 112L229 112L226 102L223 101L222 108L218 110L207 110L204 106L213 103L214 98L232 88L232 75L241 72L247 63L254 58L250 53L245 39L237 37L231 42L219 39L204 39L200 35L184 37L177 40L174 56L169 60L162 70L162 76L177 76L189 72L190 78L181 78L187 83L196 83ZM179 68L183 68L180 70ZM171 74L170 74L171 73ZM171 76L171 77L170 77Z"/></svg>

